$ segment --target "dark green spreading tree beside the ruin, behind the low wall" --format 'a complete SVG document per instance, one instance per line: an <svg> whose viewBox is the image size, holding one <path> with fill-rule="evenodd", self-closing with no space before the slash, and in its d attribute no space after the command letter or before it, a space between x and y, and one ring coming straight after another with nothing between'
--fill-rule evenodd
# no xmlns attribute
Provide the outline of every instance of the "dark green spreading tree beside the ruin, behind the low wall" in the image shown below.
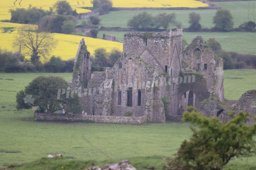
<svg viewBox="0 0 256 170"><path fill-rule="evenodd" d="M75 91L67 92L68 95L64 93L67 88L68 82L62 77L39 76L17 93L16 108L20 110L37 106L40 113L45 111L54 113L62 109L71 113L80 113L82 111L80 97Z"/></svg>

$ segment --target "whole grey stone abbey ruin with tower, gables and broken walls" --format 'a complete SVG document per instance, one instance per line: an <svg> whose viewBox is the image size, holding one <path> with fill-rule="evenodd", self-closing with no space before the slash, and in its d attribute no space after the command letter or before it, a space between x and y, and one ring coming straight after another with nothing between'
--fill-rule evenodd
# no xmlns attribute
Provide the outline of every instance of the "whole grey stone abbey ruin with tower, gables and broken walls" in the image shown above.
<svg viewBox="0 0 256 170"><path fill-rule="evenodd" d="M144 122L157 123L181 120L187 106L222 120L228 120L232 110L255 114L255 91L246 92L238 101L225 100L223 59L215 56L201 36L182 51L182 34L182 28L128 32L122 57L112 68L92 66L82 39L70 88L82 96L84 112L123 117L131 111Z"/></svg>

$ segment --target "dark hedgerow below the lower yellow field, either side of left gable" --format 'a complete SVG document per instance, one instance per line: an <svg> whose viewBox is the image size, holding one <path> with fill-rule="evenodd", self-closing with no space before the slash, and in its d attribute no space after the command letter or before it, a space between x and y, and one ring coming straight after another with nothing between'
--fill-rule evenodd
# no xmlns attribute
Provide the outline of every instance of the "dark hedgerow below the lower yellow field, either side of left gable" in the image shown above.
<svg viewBox="0 0 256 170"><path fill-rule="evenodd" d="M97 48L92 56L92 65L101 67L112 67L122 56L122 52L113 48L107 52L105 48ZM15 53L0 49L0 72L73 72L75 58L63 60L60 56L51 56L45 63L31 63L18 51Z"/></svg>

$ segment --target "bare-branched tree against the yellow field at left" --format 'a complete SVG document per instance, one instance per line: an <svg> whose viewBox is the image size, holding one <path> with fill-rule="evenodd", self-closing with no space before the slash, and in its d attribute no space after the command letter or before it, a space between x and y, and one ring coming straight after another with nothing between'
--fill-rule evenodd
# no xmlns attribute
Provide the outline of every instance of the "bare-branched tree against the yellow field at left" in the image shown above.
<svg viewBox="0 0 256 170"><path fill-rule="evenodd" d="M41 56L46 58L58 44L51 33L39 31L37 25L23 24L17 32L13 48L24 50L26 55L31 56L33 64L38 64Z"/></svg>

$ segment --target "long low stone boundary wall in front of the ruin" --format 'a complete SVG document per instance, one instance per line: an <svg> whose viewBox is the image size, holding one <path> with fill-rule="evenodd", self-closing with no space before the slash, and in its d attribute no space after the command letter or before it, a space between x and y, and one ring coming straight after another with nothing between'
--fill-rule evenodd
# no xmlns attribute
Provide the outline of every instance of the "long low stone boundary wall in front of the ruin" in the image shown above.
<svg viewBox="0 0 256 170"><path fill-rule="evenodd" d="M99 116L99 115L81 115L81 114L55 114L55 113L35 113L36 120L92 120L104 123L129 123L141 124L147 122L148 117L126 117L126 116Z"/></svg>

